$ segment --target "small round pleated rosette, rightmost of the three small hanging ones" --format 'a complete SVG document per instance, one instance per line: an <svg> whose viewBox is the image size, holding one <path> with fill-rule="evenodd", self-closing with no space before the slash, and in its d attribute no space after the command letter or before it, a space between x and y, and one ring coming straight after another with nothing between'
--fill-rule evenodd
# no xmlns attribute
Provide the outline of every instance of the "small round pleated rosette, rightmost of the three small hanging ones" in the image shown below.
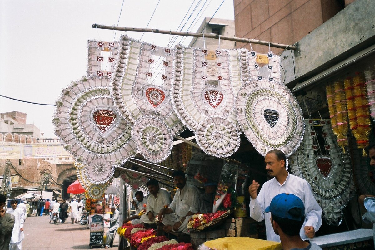
<svg viewBox="0 0 375 250"><path fill-rule="evenodd" d="M240 133L236 126L222 117L205 119L196 131L196 143L208 155L227 157L240 146Z"/></svg>

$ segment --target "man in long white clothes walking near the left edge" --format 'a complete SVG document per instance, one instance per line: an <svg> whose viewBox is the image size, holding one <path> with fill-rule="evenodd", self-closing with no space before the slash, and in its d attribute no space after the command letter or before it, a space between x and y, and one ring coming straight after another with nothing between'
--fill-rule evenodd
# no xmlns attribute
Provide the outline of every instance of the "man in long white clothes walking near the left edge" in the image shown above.
<svg viewBox="0 0 375 250"><path fill-rule="evenodd" d="M6 211L14 216L14 227L12 231L12 238L10 239L9 249L10 250L21 250L22 240L24 239L24 228L23 224L25 221L25 213L22 208L17 207L17 201L13 200L10 202L12 208Z"/></svg>

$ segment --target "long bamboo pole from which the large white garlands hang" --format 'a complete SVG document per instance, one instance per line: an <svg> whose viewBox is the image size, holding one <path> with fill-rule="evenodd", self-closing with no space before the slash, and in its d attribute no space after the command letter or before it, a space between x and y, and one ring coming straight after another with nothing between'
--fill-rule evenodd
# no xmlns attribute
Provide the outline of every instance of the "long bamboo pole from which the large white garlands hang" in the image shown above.
<svg viewBox="0 0 375 250"><path fill-rule="evenodd" d="M168 35L177 35L177 36L193 36L193 37L205 37L205 38L214 38L214 39L222 39L234 42L241 42L241 43L253 43L259 45L266 45L274 48L281 48L281 49L291 49L296 50L296 45L287 45L281 43L272 43L262 40L255 40L249 38L241 38L241 37L231 37L231 36L220 36L219 34L211 34L211 33L193 33L193 32L180 32L180 31L168 31L168 30L159 30L159 29L148 29L148 28L130 28L130 27L118 27L118 26L108 26L108 25L100 25L100 24L93 24L93 28L97 29L104 29L104 30L120 30L120 31L135 31L135 32L148 32L148 33L160 33L160 34L168 34Z"/></svg>

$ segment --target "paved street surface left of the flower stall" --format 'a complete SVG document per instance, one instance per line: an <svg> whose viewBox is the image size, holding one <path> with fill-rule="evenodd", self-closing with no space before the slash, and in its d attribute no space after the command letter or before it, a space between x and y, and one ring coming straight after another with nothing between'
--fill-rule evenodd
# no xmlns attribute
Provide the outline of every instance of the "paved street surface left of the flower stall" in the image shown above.
<svg viewBox="0 0 375 250"><path fill-rule="evenodd" d="M54 225L49 217L28 217L25 225L25 239L23 250L51 250L51 249L90 249L90 230L81 224L73 225L70 217L65 224ZM118 247L118 236L114 240L113 250Z"/></svg>

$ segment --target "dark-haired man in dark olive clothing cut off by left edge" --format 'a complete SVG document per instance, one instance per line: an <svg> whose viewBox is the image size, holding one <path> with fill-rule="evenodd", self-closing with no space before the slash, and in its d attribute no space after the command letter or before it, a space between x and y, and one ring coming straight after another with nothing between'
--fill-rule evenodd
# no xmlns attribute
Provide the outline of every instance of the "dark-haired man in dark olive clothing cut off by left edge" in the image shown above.
<svg viewBox="0 0 375 250"><path fill-rule="evenodd" d="M5 212L5 195L0 195L0 250L9 250L14 227L14 216Z"/></svg>

